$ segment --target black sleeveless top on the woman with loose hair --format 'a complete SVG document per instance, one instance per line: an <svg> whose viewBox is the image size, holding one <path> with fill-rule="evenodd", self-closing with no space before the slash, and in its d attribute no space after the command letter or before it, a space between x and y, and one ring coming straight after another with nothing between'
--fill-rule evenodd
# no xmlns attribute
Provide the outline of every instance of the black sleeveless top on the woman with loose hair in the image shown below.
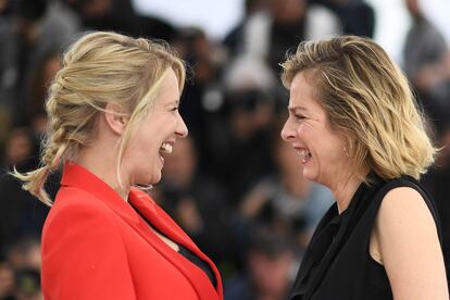
<svg viewBox="0 0 450 300"><path fill-rule="evenodd" d="M438 228L435 204L412 177L385 182L371 173L371 185L361 184L340 215L335 203L324 215L307 249L289 299L385 300L393 299L383 265L368 252L371 233L386 193L411 187L424 198Z"/></svg>

